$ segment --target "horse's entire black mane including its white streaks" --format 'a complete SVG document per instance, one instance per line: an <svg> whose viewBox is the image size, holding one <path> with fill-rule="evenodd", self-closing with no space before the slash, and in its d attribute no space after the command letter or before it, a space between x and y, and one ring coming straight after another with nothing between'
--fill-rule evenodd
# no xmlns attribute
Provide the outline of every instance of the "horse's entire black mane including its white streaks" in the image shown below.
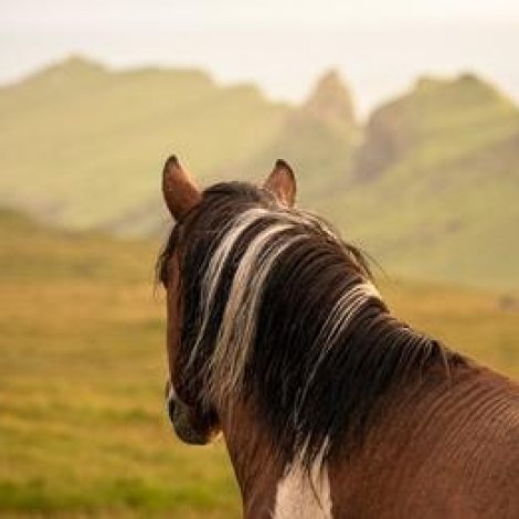
<svg viewBox="0 0 519 519"><path fill-rule="evenodd" d="M353 448L391 391L464 362L389 314L357 247L263 189L205 190L158 260L165 285L176 251L179 395L253 399L286 462Z"/></svg>

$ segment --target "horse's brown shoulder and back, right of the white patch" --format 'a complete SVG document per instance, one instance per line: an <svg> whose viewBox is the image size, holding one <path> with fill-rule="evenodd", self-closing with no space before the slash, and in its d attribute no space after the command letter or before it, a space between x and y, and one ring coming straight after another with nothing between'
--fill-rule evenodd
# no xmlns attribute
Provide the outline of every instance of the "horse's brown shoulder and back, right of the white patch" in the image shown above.
<svg viewBox="0 0 519 519"><path fill-rule="evenodd" d="M333 517L512 517L499 507L519 506L517 385L464 367L399 396L357 455L331 462Z"/></svg>

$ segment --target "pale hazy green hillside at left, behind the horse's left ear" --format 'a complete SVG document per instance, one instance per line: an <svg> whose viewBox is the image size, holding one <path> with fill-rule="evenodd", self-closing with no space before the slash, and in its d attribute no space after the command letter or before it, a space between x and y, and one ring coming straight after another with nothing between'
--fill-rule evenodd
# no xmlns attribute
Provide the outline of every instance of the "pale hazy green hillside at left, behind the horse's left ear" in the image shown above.
<svg viewBox="0 0 519 519"><path fill-rule="evenodd" d="M0 203L70 229L156 231L172 146L201 174L231 168L273 139L285 112L198 71L113 73L71 59L0 89Z"/></svg>

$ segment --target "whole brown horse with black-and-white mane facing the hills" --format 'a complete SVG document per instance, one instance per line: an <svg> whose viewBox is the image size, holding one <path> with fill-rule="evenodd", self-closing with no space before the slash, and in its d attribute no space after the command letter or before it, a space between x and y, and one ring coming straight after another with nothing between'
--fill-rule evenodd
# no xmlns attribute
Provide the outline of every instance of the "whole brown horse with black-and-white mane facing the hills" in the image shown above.
<svg viewBox="0 0 519 519"><path fill-rule="evenodd" d="M172 156L162 193L167 410L243 517L519 517L519 386L393 316L287 162L202 191Z"/></svg>

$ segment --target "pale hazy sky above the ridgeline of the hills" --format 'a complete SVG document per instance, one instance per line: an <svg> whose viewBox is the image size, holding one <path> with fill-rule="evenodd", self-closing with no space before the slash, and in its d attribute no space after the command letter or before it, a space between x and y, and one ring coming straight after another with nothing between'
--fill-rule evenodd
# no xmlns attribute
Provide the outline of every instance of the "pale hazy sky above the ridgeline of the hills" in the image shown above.
<svg viewBox="0 0 519 519"><path fill-rule="evenodd" d="M201 66L299 100L330 66L363 113L416 76L474 71L519 99L518 0L0 0L0 83L80 53Z"/></svg>

